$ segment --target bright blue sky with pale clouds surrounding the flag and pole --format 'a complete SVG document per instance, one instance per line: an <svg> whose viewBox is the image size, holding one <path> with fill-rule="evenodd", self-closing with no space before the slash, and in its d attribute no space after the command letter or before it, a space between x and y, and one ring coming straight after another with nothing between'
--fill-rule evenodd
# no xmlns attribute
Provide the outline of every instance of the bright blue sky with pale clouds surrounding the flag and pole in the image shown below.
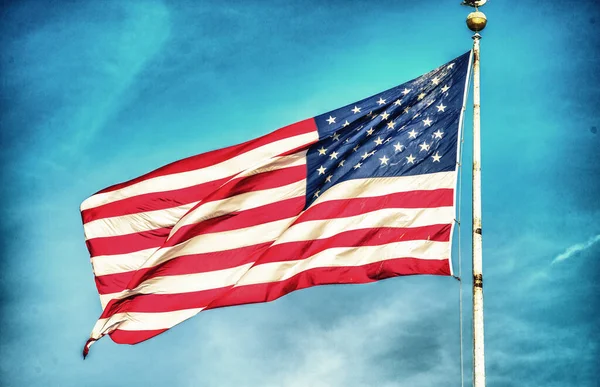
<svg viewBox="0 0 600 387"><path fill-rule="evenodd" d="M446 277L318 287L209 311L136 346L101 340L81 360L100 304L79 204L165 163L401 84L471 47L459 0L421 3L3 2L2 385L459 385L458 283ZM600 7L508 3L482 9L488 385L593 386ZM469 289L467 281L467 385Z"/></svg>

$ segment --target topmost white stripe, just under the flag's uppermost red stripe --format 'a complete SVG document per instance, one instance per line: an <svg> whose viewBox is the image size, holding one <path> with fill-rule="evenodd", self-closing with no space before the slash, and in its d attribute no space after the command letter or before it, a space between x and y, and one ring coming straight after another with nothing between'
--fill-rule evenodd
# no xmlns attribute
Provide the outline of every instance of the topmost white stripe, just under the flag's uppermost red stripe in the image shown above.
<svg viewBox="0 0 600 387"><path fill-rule="evenodd" d="M116 191L96 194L89 197L81 204L81 210L87 210L141 194L162 192L165 187L168 187L169 191L171 191L222 179L246 170L249 166L253 166L257 162L273 158L278 154L285 153L303 145L311 144L317 140L318 133L317 131L313 131L274 141L205 168L174 173L166 176L158 176L123 187Z"/></svg>

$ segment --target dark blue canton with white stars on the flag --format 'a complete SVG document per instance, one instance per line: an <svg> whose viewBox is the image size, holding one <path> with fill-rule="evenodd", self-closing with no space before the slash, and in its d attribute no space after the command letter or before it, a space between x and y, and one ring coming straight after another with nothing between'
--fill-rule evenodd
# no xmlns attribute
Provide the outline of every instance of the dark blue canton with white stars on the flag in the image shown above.
<svg viewBox="0 0 600 387"><path fill-rule="evenodd" d="M423 76L315 117L306 207L349 179L420 175L457 167L470 52Z"/></svg>

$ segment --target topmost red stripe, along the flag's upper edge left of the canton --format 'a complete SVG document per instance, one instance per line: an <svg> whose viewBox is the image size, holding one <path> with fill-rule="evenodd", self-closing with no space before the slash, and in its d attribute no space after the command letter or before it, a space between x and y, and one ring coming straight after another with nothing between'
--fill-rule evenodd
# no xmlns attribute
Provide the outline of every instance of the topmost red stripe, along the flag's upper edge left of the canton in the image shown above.
<svg viewBox="0 0 600 387"><path fill-rule="evenodd" d="M272 133L266 134L262 137L256 138L244 142L239 145L233 145L227 148L217 149L211 152L201 153L199 155L191 156L183 160L175 161L171 164L165 165L164 167L158 168L145 175L137 177L135 179L126 181L124 183L115 184L108 188L105 188L98 193L105 193L116 191L118 189L139 183L144 180L152 179L159 176L171 175L174 173L181 173L187 171L193 171L199 168L205 168L210 165L218 164L225 160L231 159L242 153L248 152L252 149L256 149L263 145L272 143L274 141L282 140L285 138L310 133L317 130L317 125L313 118L296 122L295 124L285 126Z"/></svg>

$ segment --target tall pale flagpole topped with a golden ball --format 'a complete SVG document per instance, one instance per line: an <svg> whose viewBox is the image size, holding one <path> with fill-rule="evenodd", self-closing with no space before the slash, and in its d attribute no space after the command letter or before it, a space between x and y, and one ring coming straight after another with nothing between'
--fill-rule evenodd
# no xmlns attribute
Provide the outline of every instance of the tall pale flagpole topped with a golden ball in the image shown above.
<svg viewBox="0 0 600 387"><path fill-rule="evenodd" d="M473 386L485 387L485 356L483 336L483 271L481 238L481 136L479 99L479 31L485 28L487 19L478 7L483 1L465 1L475 7L467 17L467 26L473 35Z"/></svg>

